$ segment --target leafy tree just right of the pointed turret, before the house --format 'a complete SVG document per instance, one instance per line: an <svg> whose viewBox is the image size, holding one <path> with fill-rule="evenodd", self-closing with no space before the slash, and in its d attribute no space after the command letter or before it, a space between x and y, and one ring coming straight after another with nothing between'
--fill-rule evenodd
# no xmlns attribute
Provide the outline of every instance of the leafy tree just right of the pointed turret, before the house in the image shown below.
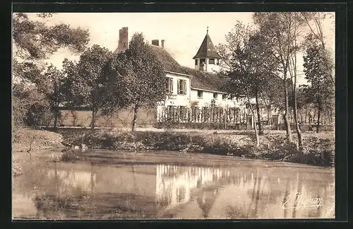
<svg viewBox="0 0 353 229"><path fill-rule="evenodd" d="M275 78L277 61L270 54L270 47L261 33L249 25L238 22L234 30L226 35L226 40L227 45L218 47L221 47L220 56L225 65L224 74L231 76L231 82L227 82L228 92L237 90L237 93L255 98L258 130L259 134L263 134L259 104L261 95L270 87L268 83L271 78ZM235 71L237 73L232 74Z"/></svg>

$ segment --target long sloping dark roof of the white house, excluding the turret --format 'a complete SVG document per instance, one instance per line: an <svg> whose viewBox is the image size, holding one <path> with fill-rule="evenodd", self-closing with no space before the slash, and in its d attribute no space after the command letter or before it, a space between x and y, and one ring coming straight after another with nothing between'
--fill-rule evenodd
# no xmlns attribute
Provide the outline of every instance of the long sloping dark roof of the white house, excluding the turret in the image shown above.
<svg viewBox="0 0 353 229"><path fill-rule="evenodd" d="M180 74L193 76L191 78L191 88L203 90L222 91L225 78L209 72L198 71L186 66L181 66L170 54L162 47L151 45L152 50L157 54L157 58L162 62L164 71L173 71Z"/></svg>

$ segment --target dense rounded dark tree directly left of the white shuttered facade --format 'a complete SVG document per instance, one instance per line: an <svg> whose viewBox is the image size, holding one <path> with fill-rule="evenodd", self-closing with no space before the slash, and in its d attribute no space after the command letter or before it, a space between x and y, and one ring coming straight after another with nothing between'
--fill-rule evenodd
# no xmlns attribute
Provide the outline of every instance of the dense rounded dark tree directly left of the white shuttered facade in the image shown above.
<svg viewBox="0 0 353 229"><path fill-rule="evenodd" d="M136 126L138 109L155 106L165 100L165 73L155 52L144 41L142 33L135 33L126 52L119 54L118 61L124 66L127 104L133 106L132 131Z"/></svg>

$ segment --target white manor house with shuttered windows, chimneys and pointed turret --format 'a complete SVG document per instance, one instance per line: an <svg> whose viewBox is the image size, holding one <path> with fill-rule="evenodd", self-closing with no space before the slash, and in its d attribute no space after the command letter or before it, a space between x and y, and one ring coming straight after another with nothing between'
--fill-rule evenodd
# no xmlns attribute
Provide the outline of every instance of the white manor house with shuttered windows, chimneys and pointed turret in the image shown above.
<svg viewBox="0 0 353 229"><path fill-rule="evenodd" d="M246 117L246 98L244 96L229 95L222 91L225 78L216 73L220 70L220 56L217 54L215 45L207 33L201 42L201 46L194 57L194 68L181 66L167 52L165 40L152 40L152 49L162 62L164 72L167 76L165 87L168 92L167 100L161 102L157 107L157 122L162 121L166 115L175 114L180 116L179 121L186 121L191 107L193 122L201 122L202 109L206 107L217 107L220 113L215 117L222 116L222 110L232 109L230 116ZM119 45L114 54L125 52L128 49L128 28L119 30ZM190 122L191 117L189 117Z"/></svg>

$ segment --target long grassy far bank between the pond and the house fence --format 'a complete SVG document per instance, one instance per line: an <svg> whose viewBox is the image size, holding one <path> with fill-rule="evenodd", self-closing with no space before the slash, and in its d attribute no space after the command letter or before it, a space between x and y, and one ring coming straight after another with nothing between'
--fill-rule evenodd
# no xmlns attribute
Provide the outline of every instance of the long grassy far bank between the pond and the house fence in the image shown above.
<svg viewBox="0 0 353 229"><path fill-rule="evenodd" d="M261 146L253 148L253 131L124 131L120 129L59 130L64 141L88 148L128 151L168 150L213 153L244 158L284 160L310 165L333 165L334 133L304 133L304 153L285 143L285 131L265 131ZM295 140L295 135L293 138Z"/></svg>

